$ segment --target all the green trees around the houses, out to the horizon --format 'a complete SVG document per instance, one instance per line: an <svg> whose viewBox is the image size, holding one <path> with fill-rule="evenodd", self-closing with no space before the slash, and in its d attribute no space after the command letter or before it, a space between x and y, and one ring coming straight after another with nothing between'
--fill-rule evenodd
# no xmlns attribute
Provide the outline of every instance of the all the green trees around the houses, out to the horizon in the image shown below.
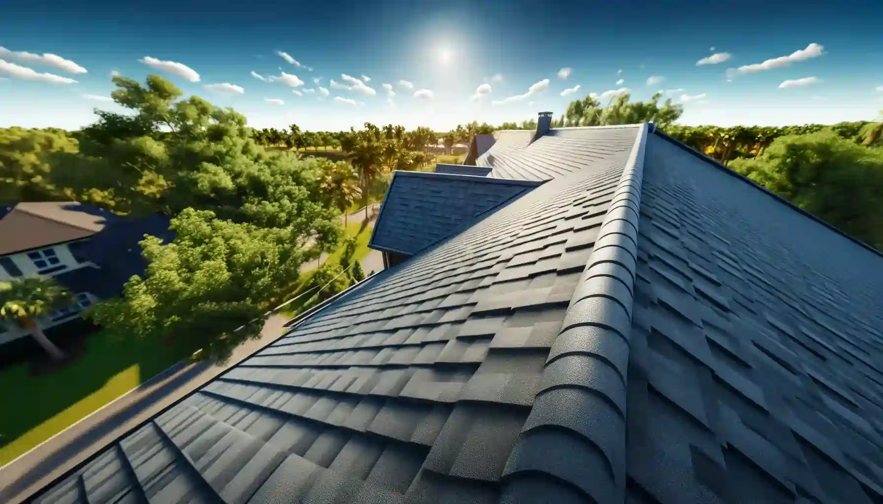
<svg viewBox="0 0 883 504"><path fill-rule="evenodd" d="M442 133L370 123L349 132L305 132L296 124L255 130L231 109L183 98L166 79L151 75L141 84L117 76L114 83L112 98L127 114L98 110L98 121L78 132L0 130L0 201L73 199L118 214L172 216L175 240L147 237L145 275L132 277L121 297L95 305L89 316L118 334L180 344L203 358L223 359L238 342L260 335L260 315L291 294L298 267L339 244L341 214L382 195L393 171L424 169L440 141L451 147L476 134L536 128L531 119L472 122ZM660 98L630 102L624 94L601 107L589 95L571 102L553 126L653 121L883 247L883 123L683 126L676 124L683 108ZM277 145L336 147L346 161L265 148ZM328 286L315 301L362 275L337 268L311 279ZM34 285L0 286L0 317L27 326L64 299Z"/></svg>

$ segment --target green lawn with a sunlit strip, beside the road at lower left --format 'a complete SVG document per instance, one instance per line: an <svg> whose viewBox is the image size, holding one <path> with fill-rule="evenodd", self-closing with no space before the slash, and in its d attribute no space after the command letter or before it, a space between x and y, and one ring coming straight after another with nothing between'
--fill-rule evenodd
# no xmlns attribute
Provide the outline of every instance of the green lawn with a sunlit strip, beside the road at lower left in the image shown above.
<svg viewBox="0 0 883 504"><path fill-rule="evenodd" d="M32 376L28 365L0 370L0 466L182 357L159 342L121 341L103 330L86 344L82 357L55 372Z"/></svg>

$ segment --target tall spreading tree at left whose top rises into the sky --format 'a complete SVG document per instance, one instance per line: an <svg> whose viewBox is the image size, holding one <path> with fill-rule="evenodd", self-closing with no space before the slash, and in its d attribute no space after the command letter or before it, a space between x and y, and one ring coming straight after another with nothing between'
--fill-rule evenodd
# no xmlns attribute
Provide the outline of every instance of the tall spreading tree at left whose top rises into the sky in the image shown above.
<svg viewBox="0 0 883 504"><path fill-rule="evenodd" d="M161 77L148 76L145 86L124 77L114 83L111 96L131 113L98 111L100 120L80 135L79 153L50 158L52 181L71 188L74 199L124 214L206 209L336 240L336 211L321 196L315 162L266 151L245 117L197 96L181 99ZM275 129L268 137L282 138Z"/></svg>

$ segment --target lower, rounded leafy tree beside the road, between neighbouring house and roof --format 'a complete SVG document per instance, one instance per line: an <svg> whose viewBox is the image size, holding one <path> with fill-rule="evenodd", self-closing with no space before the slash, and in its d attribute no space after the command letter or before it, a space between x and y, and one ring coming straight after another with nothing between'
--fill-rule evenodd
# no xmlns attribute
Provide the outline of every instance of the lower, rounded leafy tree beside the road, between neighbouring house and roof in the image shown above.
<svg viewBox="0 0 883 504"><path fill-rule="evenodd" d="M158 337L199 358L225 360L258 337L261 315L295 289L298 267L318 256L291 228L223 221L206 210L186 209L171 229L170 244L141 242L145 275L132 276L121 297L94 305L91 317L118 334Z"/></svg>

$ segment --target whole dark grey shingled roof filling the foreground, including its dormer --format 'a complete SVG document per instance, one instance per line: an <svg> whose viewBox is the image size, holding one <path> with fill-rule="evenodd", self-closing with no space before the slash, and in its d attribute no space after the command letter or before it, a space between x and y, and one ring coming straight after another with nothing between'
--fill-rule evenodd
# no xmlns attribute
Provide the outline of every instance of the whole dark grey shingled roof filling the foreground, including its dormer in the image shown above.
<svg viewBox="0 0 883 504"><path fill-rule="evenodd" d="M397 265L33 501L883 501L879 252L653 124L477 162L396 173Z"/></svg>

